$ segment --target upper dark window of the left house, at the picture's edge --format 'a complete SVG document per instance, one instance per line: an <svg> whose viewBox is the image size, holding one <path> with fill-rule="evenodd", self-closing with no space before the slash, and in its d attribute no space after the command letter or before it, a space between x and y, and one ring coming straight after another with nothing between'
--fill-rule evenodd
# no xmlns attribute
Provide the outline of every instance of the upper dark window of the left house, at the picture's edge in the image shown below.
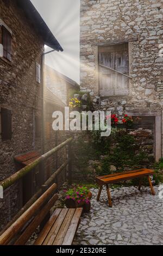
<svg viewBox="0 0 163 256"><path fill-rule="evenodd" d="M2 45L3 45L3 57L11 62L11 34L2 26Z"/></svg>

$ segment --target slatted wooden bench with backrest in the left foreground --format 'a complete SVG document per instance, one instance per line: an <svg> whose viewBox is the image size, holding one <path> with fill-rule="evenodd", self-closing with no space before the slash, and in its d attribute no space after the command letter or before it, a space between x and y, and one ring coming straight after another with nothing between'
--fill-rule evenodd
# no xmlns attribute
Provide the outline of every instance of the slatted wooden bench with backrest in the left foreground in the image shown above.
<svg viewBox="0 0 163 256"><path fill-rule="evenodd" d="M56 209L47 220L50 209L58 199L57 194L53 195L56 187L56 184L49 187L27 211L4 231L0 236L0 245L25 245L36 228L45 222L35 245L72 244L83 209Z"/></svg>

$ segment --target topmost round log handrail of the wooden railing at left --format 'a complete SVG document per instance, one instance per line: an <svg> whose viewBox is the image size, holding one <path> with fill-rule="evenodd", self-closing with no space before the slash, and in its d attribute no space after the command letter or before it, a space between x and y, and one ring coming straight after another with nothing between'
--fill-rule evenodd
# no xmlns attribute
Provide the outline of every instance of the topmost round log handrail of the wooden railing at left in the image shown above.
<svg viewBox="0 0 163 256"><path fill-rule="evenodd" d="M39 159L36 159L33 163L30 163L28 166L22 168L21 170L18 170L18 172L14 173L11 175L9 178L3 180L0 182L0 186L3 187L5 190L6 188L10 187L13 185L16 181L20 180L24 175L29 173L33 168L35 168L39 163L47 159L49 156L53 155L56 153L58 150L62 149L65 147L65 145L69 144L72 141L72 138L67 139L65 142L62 142L60 145L55 147L54 149L48 151L44 155L40 156Z"/></svg>

